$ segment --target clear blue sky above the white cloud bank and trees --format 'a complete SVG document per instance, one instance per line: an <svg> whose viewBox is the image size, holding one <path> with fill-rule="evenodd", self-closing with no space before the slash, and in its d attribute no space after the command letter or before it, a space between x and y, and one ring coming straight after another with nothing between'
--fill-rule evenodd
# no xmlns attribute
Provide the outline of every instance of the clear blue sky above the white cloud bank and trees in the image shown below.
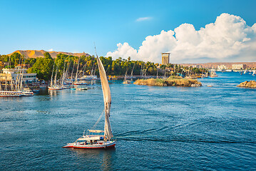
<svg viewBox="0 0 256 171"><path fill-rule="evenodd" d="M16 50L83 52L105 56L117 43L138 50L147 36L222 13L256 22L256 1L9 1L0 0L0 54ZM142 18L142 19L140 19Z"/></svg>

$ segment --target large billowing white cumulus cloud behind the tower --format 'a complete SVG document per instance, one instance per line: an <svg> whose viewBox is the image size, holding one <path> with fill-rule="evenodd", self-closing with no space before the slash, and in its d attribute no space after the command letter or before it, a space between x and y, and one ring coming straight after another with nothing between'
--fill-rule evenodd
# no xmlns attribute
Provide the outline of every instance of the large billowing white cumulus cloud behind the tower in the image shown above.
<svg viewBox="0 0 256 171"><path fill-rule="evenodd" d="M221 14L199 31L181 24L174 31L147 36L138 51L128 43L118 43L106 56L161 62L161 53L170 52L172 63L213 61L256 61L256 24L247 26L240 16Z"/></svg>

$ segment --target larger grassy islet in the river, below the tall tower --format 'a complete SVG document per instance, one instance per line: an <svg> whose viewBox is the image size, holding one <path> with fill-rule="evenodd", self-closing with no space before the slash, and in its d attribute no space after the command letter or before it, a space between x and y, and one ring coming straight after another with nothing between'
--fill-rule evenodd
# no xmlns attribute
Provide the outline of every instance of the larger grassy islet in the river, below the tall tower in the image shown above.
<svg viewBox="0 0 256 171"><path fill-rule="evenodd" d="M138 79L134 82L134 84L145 86L202 86L202 83L196 79L181 78L177 76L172 76L169 78Z"/></svg>

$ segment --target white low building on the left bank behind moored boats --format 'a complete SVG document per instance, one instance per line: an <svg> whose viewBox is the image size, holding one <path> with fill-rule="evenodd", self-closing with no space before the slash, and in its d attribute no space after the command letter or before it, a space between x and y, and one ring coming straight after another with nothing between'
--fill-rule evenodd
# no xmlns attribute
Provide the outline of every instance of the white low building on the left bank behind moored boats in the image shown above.
<svg viewBox="0 0 256 171"><path fill-rule="evenodd" d="M2 69L3 73L0 73L0 81L5 81L7 76L7 81L10 81L10 79L16 81L17 76L22 74L23 78L22 80L26 83L30 82L37 82L39 79L36 78L36 73L26 73L26 68L4 68Z"/></svg>

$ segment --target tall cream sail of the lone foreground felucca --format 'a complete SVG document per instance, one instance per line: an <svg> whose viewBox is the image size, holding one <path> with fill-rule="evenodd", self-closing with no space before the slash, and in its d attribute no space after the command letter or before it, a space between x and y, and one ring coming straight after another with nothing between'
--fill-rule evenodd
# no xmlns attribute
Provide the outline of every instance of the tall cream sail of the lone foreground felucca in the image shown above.
<svg viewBox="0 0 256 171"><path fill-rule="evenodd" d="M110 117L110 110L111 110L111 89L108 85L108 78L106 76L105 69L101 60L97 56L97 63L98 63L98 71L101 77L101 87L103 91L103 98L104 98L104 106L105 106L105 127L104 127L104 136L106 140L110 140L113 135L111 131L111 123L109 121Z"/></svg>

